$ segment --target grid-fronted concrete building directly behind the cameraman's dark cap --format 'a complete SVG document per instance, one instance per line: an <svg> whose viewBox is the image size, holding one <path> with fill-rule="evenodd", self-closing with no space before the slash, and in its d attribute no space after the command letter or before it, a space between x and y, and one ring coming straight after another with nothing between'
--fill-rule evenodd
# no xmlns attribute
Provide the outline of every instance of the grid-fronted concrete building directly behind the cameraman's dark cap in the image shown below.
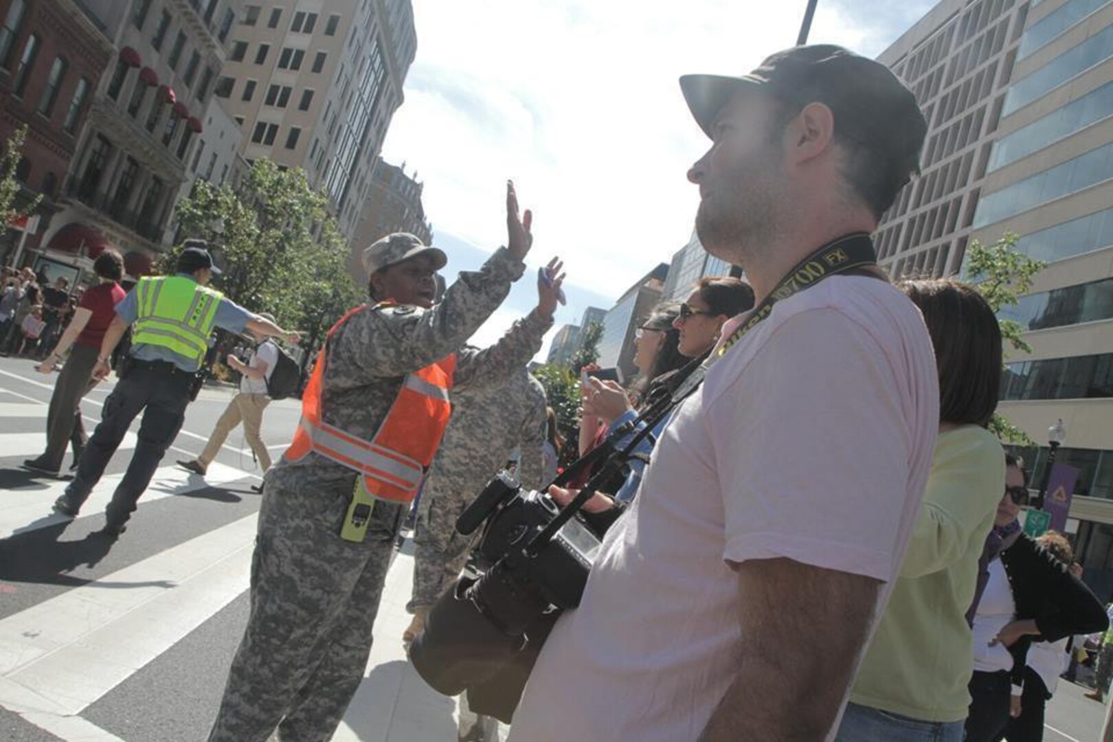
<svg viewBox="0 0 1113 742"><path fill-rule="evenodd" d="M943 0L878 57L912 87L928 122L920 175L875 235L892 276L962 266L1027 13L1023 0Z"/></svg>

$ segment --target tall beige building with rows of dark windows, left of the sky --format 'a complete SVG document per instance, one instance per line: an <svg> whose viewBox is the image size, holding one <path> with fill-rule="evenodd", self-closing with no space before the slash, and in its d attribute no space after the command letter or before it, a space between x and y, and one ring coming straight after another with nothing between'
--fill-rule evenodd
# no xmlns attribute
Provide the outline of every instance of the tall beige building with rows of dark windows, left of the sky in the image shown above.
<svg viewBox="0 0 1113 742"><path fill-rule="evenodd" d="M410 0L248 2L216 86L247 162L304 168L349 239L417 48Z"/></svg>

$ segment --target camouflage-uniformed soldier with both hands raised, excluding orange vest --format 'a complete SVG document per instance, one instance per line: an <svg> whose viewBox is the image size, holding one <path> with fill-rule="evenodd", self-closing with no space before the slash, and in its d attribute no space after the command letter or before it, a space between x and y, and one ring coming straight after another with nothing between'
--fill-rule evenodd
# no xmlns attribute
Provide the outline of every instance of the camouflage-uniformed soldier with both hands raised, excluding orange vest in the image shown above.
<svg viewBox="0 0 1113 742"><path fill-rule="evenodd" d="M479 271L461 273L434 309L433 275L444 265L443 253L412 235L392 235L367 248L372 298L391 297L397 305L351 315L327 340L318 362L326 364L321 394L326 424L371 439L407 374L456 353L455 380L465 384L505 376L540 349L552 324L559 278L539 281L538 307L494 346L461 350L524 270L531 215L525 212L524 224L519 218L509 184L506 211L508 247ZM284 456L267 472L250 614L210 742L265 742L276 726L280 740L323 742L344 716L367 664L406 507L375 499L364 541L342 540L357 476L316 452L298 461Z"/></svg>

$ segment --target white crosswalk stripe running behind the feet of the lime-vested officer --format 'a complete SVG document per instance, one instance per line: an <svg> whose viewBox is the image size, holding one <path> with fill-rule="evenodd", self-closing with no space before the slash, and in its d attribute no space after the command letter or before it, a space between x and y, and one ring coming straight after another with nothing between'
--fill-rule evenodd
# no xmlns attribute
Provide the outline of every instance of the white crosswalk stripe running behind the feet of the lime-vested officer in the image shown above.
<svg viewBox="0 0 1113 742"><path fill-rule="evenodd" d="M214 487L229 482L246 479L252 475L219 462L209 464L205 477L187 472L180 466L162 466L155 469L150 485L144 492L140 505L162 497L184 495L189 492ZM124 473L101 477L92 488L89 499L81 506L81 512L88 515L104 512L112 498L116 485L124 478ZM69 518L50 509L69 485L69 482L50 481L46 486L35 484L27 487L7 487L0 499L0 538L9 538L19 533L37 531L48 526L65 523Z"/></svg>

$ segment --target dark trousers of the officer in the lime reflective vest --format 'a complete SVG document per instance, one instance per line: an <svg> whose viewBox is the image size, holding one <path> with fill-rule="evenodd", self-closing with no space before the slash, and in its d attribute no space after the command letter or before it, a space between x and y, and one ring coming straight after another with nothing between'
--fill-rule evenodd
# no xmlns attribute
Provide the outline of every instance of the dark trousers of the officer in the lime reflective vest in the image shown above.
<svg viewBox="0 0 1113 742"><path fill-rule="evenodd" d="M66 498L80 508L124 441L131 421L142 412L136 452L106 511L110 526L122 525L131 517L166 449L178 436L194 378L167 362L132 359L130 363L127 377L105 400L100 424L85 446L73 482L66 488Z"/></svg>

